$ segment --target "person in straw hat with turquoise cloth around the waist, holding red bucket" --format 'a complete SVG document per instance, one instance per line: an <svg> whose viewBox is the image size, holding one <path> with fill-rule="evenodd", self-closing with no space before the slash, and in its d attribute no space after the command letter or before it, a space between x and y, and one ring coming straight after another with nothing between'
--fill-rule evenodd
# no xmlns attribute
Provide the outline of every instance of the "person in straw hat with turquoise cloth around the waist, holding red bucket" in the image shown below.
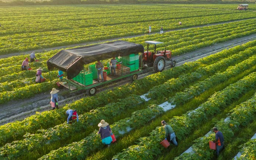
<svg viewBox="0 0 256 160"><path fill-rule="evenodd" d="M100 127L98 134L100 134L100 138L102 139L102 143L104 145L110 146L110 143L113 141L111 135L113 135L109 124L105 122L105 120L101 120L98 124Z"/></svg>

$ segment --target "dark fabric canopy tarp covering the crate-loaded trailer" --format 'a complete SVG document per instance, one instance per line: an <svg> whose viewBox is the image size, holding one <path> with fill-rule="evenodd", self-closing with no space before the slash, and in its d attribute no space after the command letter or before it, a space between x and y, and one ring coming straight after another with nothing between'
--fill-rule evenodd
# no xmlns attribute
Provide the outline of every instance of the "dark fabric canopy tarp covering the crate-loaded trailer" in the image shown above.
<svg viewBox="0 0 256 160"><path fill-rule="evenodd" d="M129 54L140 52L144 52L142 45L118 40L92 46L61 50L47 60L47 67L49 70L58 68L61 71L67 72L68 79L71 79L79 74L84 64L112 57L129 56Z"/></svg>

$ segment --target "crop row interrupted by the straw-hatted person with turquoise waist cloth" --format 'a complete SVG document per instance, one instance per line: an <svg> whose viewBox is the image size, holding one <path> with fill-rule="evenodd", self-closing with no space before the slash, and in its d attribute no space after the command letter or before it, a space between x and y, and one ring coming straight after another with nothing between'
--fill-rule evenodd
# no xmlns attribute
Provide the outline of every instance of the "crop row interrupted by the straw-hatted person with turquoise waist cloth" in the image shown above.
<svg viewBox="0 0 256 160"><path fill-rule="evenodd" d="M209 86L209 84L210 83L213 83L213 84L210 84L211 86L213 86L213 85L217 85L218 83L221 83L221 81L218 81L221 77L223 77L224 79L226 79L225 77L229 77L230 75L232 75L232 76L236 76L236 74L237 73L239 73L239 72L243 72L244 70L246 70L246 69L248 69L248 68L250 68L250 67L252 67L254 64L256 63L256 57L254 56L254 57L252 57L251 59L249 59L249 60L245 60L244 62L242 62L242 63L239 63L239 64L237 64L236 66L234 66L234 67L231 67L228 71L225 71L225 72L223 72L223 73L217 73L215 76L212 76L212 77L209 77L208 79L206 79L205 81L202 81L202 82L200 82L200 83L196 83L195 84L195 87L194 88L189 88L189 89L187 89L186 90L186 92L184 93L184 92L180 92L181 94L183 93L184 95L186 95L186 96L190 96L191 98L193 97L193 96L196 96L196 94L200 94L200 93L198 93L198 92L201 92L202 93L202 89L200 90L200 87L201 88L203 88L204 86ZM234 74L235 73L235 74ZM198 90L196 90L196 89L198 89ZM207 88L205 89L205 90L207 90ZM204 91L205 91L204 90ZM191 92L193 92L194 94L191 94ZM173 98L175 99L175 97L179 97L179 93L177 93L177 95L178 96L174 96ZM181 104L181 103L184 103L184 100L182 100L182 99L177 99L176 100L176 102L177 103L179 103L179 104ZM172 105L173 105L173 103L172 103ZM156 107L156 106L155 106ZM159 113L159 111L157 110L156 111L156 114L158 114ZM138 114L139 115L139 114ZM139 115L139 117L144 117L145 115ZM146 120L148 119L148 117L144 117ZM150 118L151 119L151 118ZM122 120L122 121L124 121L124 122L126 122L127 120ZM128 120L128 121L131 121L131 120ZM115 135L117 135L116 136L116 138L118 138L118 136L120 136L120 132L122 133L122 134L124 134L124 133L126 133L127 131L126 131L126 129L128 128L129 129L129 131L132 129L132 128L135 128L135 126L136 126L136 128L137 128L137 123L141 123L141 122L144 122L144 121L141 121L141 118L139 119L139 120L135 120L135 121L131 121L131 123L132 124L130 124L130 123L128 123L128 126L127 126L127 124L120 124L120 123L118 123L118 128L114 128L113 129L113 127L111 127L112 128L112 130L113 131L115 131L114 132L114 134ZM116 126L117 124L115 123L115 124L113 124L113 126ZM117 132L118 131L118 132ZM94 137L94 138L92 138L92 136ZM70 145L68 145L68 146L66 146L66 147L61 147L61 148L59 148L58 150L56 150L56 151L52 151L52 152L50 152L49 154L46 154L45 156L43 156L42 157L42 159L44 158L50 158L50 159L56 159L57 157L59 158L59 159L64 159L64 157L70 157L71 155L76 155L76 156L78 156L79 158L81 158L81 159L83 159L83 158L85 158L85 156L86 156L86 154L88 154L88 152L89 152L89 150L91 150L91 151L93 151L93 150L95 150L96 148L100 148L102 145L100 145L100 146L98 146L98 145L96 145L95 147L96 148L92 148L91 146L93 145L95 145L94 143L96 143L95 141L93 141L93 139L96 139L96 137L95 137L96 135L95 134L91 134L90 136L89 136L89 138L88 137L86 137L85 139L83 139L82 141L79 141L79 142L74 142L74 143L72 143L72 144L70 144ZM89 141L89 139L91 140L91 141L93 141L93 142L91 142L91 141ZM85 141L86 141L86 143L85 143ZM92 144L93 143L93 144ZM99 143L100 144L100 143ZM82 147L82 149L79 149L78 150L78 147L79 148L81 148ZM89 149L90 148L90 149ZM66 154L63 154L63 151L66 153ZM68 151L68 152L67 152ZM77 152L79 152L79 153L77 153ZM64 157L63 157L64 156ZM82 157L80 157L80 156L82 156Z"/></svg>

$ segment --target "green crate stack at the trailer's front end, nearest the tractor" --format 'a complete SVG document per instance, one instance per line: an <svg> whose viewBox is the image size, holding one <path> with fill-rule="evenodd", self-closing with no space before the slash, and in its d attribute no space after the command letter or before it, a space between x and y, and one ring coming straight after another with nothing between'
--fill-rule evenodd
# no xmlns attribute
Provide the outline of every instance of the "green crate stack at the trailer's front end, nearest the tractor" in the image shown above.
<svg viewBox="0 0 256 160"><path fill-rule="evenodd" d="M122 64L129 67L130 71L139 69L139 54L130 54L129 56L122 57Z"/></svg>

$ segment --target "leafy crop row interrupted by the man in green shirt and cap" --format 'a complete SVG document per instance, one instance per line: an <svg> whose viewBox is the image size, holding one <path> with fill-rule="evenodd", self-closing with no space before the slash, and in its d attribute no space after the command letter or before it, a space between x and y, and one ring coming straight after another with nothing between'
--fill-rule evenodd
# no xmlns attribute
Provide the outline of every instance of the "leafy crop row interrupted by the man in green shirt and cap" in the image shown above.
<svg viewBox="0 0 256 160"><path fill-rule="evenodd" d="M255 88L256 72L244 77L236 83L228 86L222 91L216 92L207 102L201 104L196 111L191 111L189 114L184 114L180 117L174 117L168 124L172 124L175 134L180 140L184 139L193 131L193 128L198 127L207 118L216 114L233 100L238 99L243 93ZM224 98L225 97L225 98ZM157 127L150 132L150 136L141 137L138 145L130 146L123 152L118 153L113 159L147 159L147 157L157 156L164 149L159 143L164 139L164 129Z"/></svg>

